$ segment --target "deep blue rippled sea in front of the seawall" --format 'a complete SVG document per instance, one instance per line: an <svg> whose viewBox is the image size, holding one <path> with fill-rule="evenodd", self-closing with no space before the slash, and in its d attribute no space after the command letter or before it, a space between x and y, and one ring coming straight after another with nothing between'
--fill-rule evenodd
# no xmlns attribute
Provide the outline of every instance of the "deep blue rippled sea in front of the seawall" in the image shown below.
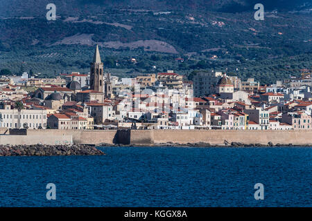
<svg viewBox="0 0 312 221"><path fill-rule="evenodd" d="M107 155L0 157L0 206L312 206L310 147L100 149Z"/></svg>

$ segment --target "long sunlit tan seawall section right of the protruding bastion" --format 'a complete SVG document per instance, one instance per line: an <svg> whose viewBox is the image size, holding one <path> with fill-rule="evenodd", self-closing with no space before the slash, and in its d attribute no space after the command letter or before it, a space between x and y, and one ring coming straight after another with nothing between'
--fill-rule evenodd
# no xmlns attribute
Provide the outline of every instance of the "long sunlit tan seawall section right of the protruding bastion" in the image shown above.
<svg viewBox="0 0 312 221"><path fill-rule="evenodd" d="M207 143L211 145L231 144L276 144L312 145L312 131L154 131L154 143L173 142L179 144Z"/></svg>

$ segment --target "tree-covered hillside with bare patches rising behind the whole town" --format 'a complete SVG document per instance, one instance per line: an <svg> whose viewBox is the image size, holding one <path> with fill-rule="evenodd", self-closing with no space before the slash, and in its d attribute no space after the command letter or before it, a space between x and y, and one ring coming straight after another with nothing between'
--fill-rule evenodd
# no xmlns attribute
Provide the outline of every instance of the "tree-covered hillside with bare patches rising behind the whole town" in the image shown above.
<svg viewBox="0 0 312 221"><path fill-rule="evenodd" d="M101 46L107 70L121 76L239 68L241 77L268 83L274 78L261 77L271 71L261 64L289 61L284 65L294 65L294 74L311 68L311 2L263 1L264 21L254 20L255 2L58 0L56 21L47 21L49 1L0 0L0 70L87 72L94 44ZM130 57L138 64L130 64ZM177 64L177 57L184 64ZM284 69L277 68L277 76L290 74Z"/></svg>

